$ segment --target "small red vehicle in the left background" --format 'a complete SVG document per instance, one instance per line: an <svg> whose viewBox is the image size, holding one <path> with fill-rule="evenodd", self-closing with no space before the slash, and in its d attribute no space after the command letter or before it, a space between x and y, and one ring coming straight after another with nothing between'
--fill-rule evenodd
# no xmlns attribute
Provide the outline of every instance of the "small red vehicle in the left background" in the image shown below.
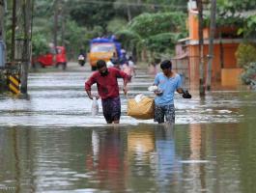
<svg viewBox="0 0 256 193"><path fill-rule="evenodd" d="M51 50L33 59L33 65L39 64L42 68L62 65L62 69L67 68L67 57L66 49L64 46L56 46L56 48L51 48Z"/></svg>

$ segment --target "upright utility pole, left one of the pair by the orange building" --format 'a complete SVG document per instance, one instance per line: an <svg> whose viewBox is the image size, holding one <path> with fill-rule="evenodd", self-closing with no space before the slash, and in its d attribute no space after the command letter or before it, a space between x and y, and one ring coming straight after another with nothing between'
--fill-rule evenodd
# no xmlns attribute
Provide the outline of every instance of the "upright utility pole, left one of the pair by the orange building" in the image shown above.
<svg viewBox="0 0 256 193"><path fill-rule="evenodd" d="M203 3L197 0L198 7L198 36L199 36L199 94L205 96L205 71L204 71L204 35L203 35Z"/></svg>

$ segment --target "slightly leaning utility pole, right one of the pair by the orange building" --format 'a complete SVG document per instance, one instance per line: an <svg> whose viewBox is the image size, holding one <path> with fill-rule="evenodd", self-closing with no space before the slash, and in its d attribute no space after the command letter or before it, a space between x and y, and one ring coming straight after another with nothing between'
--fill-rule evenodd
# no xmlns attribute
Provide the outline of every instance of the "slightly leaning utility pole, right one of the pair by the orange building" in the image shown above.
<svg viewBox="0 0 256 193"><path fill-rule="evenodd" d="M215 33L215 18L216 18L216 0L211 1L211 23L210 23L210 40L209 40L209 60L208 60L208 68L207 68L207 90L211 90L212 86L212 66L213 66L213 48L214 48L214 33Z"/></svg>

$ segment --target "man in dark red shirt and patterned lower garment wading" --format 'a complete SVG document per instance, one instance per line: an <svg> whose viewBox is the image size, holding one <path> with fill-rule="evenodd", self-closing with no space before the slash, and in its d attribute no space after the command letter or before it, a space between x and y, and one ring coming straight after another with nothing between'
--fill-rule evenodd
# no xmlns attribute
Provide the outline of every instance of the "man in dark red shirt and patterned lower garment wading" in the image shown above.
<svg viewBox="0 0 256 193"><path fill-rule="evenodd" d="M85 82L85 91L93 99L91 87L97 83L98 93L101 97L103 115L107 124L119 124L121 116L121 102L117 78L124 79L124 94L128 93L128 74L120 69L108 68L103 60L97 62L98 71ZM99 98L99 96L97 97Z"/></svg>

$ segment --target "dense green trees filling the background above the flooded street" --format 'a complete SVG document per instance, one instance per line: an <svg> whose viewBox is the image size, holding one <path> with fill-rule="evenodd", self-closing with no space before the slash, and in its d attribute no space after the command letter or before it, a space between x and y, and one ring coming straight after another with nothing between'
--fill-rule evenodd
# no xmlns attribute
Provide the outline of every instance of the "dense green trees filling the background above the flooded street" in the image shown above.
<svg viewBox="0 0 256 193"><path fill-rule="evenodd" d="M92 38L114 34L138 59L171 56L176 41L187 36L186 4L187 0L35 0L33 54L47 50L55 34L57 43L65 45L70 59L75 59L80 48L88 49ZM12 1L8 10L10 40ZM238 35L255 38L255 10L255 0L217 0L217 25L236 25ZM205 21L208 25L209 17Z"/></svg>

